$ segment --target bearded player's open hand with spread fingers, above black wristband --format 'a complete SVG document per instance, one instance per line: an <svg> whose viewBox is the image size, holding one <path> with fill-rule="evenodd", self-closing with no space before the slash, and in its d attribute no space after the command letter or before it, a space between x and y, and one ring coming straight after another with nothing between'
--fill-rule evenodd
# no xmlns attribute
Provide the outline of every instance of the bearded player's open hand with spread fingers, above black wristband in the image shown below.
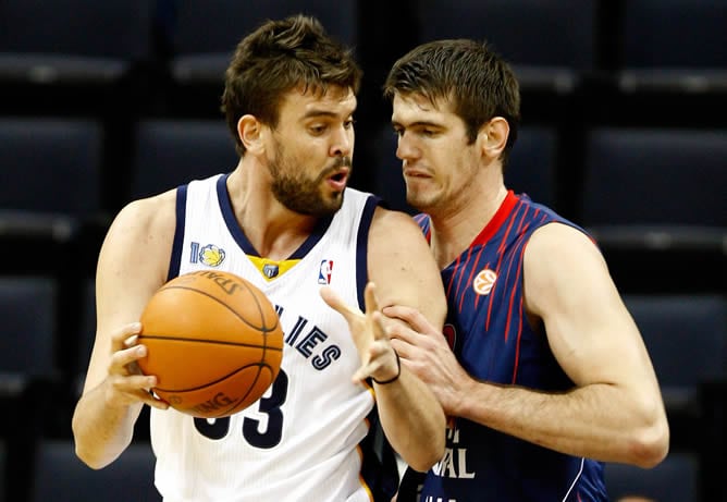
<svg viewBox="0 0 727 502"><path fill-rule="evenodd" d="M369 282L364 292L366 313L352 307L331 286L322 286L323 301L348 322L361 366L354 374L354 381L371 377L385 382L395 379L399 372L398 359L384 328L384 318L379 310L375 286Z"/></svg>

